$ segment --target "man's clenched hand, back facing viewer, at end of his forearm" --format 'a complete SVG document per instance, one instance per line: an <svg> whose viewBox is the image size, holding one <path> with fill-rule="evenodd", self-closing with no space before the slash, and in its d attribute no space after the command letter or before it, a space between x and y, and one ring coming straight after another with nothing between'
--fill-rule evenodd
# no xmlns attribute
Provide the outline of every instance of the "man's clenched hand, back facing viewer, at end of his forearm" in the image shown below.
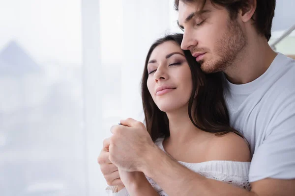
<svg viewBox="0 0 295 196"><path fill-rule="evenodd" d="M157 149L145 125L133 119L121 120L114 125L110 139L109 160L127 172L142 172L148 154Z"/></svg>

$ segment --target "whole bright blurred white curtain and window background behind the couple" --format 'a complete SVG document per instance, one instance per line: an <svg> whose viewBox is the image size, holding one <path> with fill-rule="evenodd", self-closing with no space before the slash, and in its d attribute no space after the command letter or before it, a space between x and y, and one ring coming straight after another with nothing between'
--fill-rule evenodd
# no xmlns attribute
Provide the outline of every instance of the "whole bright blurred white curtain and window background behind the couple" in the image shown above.
<svg viewBox="0 0 295 196"><path fill-rule="evenodd" d="M270 44L295 25L292 1ZM105 196L102 141L143 121L145 57L176 21L173 0L0 0L0 196ZM274 48L295 57L295 32Z"/></svg>

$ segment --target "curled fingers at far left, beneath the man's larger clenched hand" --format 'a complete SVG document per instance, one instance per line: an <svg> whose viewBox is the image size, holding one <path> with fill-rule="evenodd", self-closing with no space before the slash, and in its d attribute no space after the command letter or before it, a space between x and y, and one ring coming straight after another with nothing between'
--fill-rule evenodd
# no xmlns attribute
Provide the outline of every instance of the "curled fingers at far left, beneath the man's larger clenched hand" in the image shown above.
<svg viewBox="0 0 295 196"><path fill-rule="evenodd" d="M103 148L97 158L97 162L108 185L122 187L123 183L120 179L118 168L109 160L109 146L110 138L103 141Z"/></svg>

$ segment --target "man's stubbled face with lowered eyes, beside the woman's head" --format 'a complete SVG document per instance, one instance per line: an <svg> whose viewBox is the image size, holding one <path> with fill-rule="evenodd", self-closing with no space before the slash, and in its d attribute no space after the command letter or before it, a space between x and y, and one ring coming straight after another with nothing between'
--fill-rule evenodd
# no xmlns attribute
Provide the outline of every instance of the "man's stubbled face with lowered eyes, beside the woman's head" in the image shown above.
<svg viewBox="0 0 295 196"><path fill-rule="evenodd" d="M205 73L226 71L247 42L236 19L226 8L203 2L178 5L178 24L184 30L181 49L189 49Z"/></svg>

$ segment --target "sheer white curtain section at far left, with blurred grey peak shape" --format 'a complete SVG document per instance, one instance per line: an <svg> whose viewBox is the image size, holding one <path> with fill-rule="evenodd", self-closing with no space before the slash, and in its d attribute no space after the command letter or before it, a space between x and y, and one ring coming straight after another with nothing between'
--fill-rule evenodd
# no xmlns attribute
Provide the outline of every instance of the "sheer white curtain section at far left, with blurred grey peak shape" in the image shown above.
<svg viewBox="0 0 295 196"><path fill-rule="evenodd" d="M0 195L85 195L80 0L0 0L0 29Z"/></svg>

